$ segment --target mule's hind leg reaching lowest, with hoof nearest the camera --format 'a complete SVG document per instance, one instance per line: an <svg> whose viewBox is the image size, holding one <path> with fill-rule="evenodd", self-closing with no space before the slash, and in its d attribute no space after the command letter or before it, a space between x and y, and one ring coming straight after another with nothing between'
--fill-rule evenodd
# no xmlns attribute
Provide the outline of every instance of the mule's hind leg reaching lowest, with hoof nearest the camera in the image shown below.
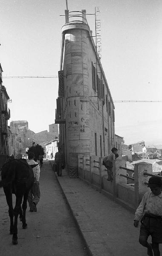
<svg viewBox="0 0 162 256"><path fill-rule="evenodd" d="M17 244L17 218L20 212L23 195L16 195L16 204L14 207L14 230L12 237L12 244Z"/></svg>

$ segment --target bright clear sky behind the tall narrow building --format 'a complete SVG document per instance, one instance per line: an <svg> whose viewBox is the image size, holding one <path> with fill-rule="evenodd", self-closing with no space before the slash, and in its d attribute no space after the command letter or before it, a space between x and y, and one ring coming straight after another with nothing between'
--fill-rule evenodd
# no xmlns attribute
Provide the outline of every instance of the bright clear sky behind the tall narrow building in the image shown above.
<svg viewBox="0 0 162 256"><path fill-rule="evenodd" d="M100 6L101 63L113 100L162 100L162 1L68 0L69 11ZM1 0L3 76L58 76L66 0ZM87 15L95 34L95 18ZM58 79L3 79L12 120L32 131L55 122ZM115 103L115 132L127 144L162 144L162 102Z"/></svg>

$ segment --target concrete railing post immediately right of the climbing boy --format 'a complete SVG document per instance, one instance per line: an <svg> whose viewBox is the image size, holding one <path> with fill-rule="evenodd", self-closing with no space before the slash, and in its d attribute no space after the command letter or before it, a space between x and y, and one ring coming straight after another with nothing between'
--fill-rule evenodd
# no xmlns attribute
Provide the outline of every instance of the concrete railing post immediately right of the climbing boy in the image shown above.
<svg viewBox="0 0 162 256"><path fill-rule="evenodd" d="M113 194L118 197L118 183L127 184L127 178L120 176L119 174L127 175L127 171L120 169L119 167L126 167L126 160L114 160L113 161Z"/></svg>

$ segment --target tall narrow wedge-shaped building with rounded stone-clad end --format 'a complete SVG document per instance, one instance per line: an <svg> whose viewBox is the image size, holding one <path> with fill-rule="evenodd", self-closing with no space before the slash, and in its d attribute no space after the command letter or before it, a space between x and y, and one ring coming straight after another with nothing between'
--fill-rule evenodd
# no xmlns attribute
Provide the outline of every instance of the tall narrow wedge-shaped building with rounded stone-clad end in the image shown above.
<svg viewBox="0 0 162 256"><path fill-rule="evenodd" d="M69 22L66 10L60 69L64 83L59 82L55 120L60 124L59 141L70 177L78 176L78 154L105 156L114 146L115 136L113 100L85 22L85 10L82 15L81 22L77 17Z"/></svg>

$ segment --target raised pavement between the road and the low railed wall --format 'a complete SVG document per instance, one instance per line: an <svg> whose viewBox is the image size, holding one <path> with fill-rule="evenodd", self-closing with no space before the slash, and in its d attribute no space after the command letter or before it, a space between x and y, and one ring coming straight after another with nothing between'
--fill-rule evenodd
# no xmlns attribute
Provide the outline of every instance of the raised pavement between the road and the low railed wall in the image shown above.
<svg viewBox="0 0 162 256"><path fill-rule="evenodd" d="M139 244L139 227L133 226L133 213L80 179L69 178L65 170L62 175L57 177L58 182L90 255L147 255L147 249Z"/></svg>

